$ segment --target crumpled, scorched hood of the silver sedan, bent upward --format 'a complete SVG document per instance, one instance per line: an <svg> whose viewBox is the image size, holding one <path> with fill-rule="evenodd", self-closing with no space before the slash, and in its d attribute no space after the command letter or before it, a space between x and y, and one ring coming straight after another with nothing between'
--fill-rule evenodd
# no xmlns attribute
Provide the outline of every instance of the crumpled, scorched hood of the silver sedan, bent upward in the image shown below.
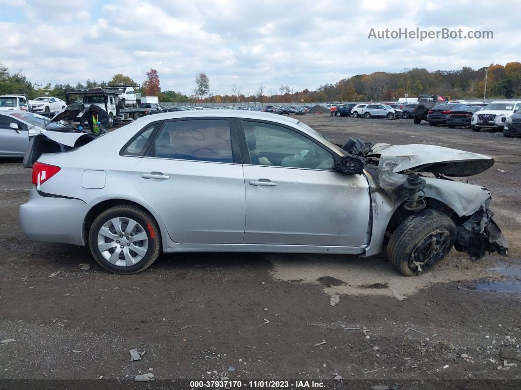
<svg viewBox="0 0 521 390"><path fill-rule="evenodd" d="M494 159L482 154L435 145L375 144L366 157L379 158L378 166L395 173L430 172L449 177L472 176L494 165Z"/></svg>

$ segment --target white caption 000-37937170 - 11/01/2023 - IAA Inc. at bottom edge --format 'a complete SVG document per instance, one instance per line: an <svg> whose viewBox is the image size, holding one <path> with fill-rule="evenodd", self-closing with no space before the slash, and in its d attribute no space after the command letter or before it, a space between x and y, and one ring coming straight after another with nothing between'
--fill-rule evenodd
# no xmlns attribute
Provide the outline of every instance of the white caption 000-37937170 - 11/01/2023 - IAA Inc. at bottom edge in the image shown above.
<svg viewBox="0 0 521 390"><path fill-rule="evenodd" d="M191 388L324 388L315 381L190 381Z"/></svg>

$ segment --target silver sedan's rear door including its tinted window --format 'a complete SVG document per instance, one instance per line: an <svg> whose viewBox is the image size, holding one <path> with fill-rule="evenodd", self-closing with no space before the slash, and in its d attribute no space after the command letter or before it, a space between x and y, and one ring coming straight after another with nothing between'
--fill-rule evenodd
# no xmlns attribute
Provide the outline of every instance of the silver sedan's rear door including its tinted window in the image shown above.
<svg viewBox="0 0 521 390"><path fill-rule="evenodd" d="M242 244L244 177L231 131L227 118L167 121L134 168L135 186L173 241Z"/></svg>

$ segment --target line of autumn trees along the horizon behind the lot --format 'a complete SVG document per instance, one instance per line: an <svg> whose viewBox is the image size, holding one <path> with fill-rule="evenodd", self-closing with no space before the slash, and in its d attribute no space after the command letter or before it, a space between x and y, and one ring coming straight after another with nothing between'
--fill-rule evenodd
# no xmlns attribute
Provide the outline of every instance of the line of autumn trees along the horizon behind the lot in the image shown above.
<svg viewBox="0 0 521 390"><path fill-rule="evenodd" d="M401 97L417 97L420 94L451 96L453 99L482 98L485 92L487 72L488 98L521 97L521 62L508 62L505 66L490 64L488 67L458 70L428 71L423 68L404 69L398 73L374 72L357 74L334 84L320 85L315 91L295 91L289 85L280 87L258 86L256 91L243 91L233 84L230 93L214 94L210 79L205 72L195 77L195 86L190 96L176 91L161 91L157 70L150 69L138 92L146 96L158 96L160 102L211 102L211 103L312 103L330 101L391 101ZM28 98L41 95L65 98L65 88L93 88L100 85L135 84L124 74L116 74L110 81L86 80L76 85L33 84L21 71L9 72L0 64L0 94L24 94Z"/></svg>

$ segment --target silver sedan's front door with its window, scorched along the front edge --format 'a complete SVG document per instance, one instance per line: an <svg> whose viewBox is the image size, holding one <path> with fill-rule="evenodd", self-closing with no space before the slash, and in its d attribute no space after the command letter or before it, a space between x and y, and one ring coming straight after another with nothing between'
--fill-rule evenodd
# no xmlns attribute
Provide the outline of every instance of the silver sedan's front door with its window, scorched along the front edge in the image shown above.
<svg viewBox="0 0 521 390"><path fill-rule="evenodd" d="M370 205L363 175L334 171L330 150L296 129L254 120L242 127L241 149L251 159L243 166L245 244L364 244Z"/></svg>

